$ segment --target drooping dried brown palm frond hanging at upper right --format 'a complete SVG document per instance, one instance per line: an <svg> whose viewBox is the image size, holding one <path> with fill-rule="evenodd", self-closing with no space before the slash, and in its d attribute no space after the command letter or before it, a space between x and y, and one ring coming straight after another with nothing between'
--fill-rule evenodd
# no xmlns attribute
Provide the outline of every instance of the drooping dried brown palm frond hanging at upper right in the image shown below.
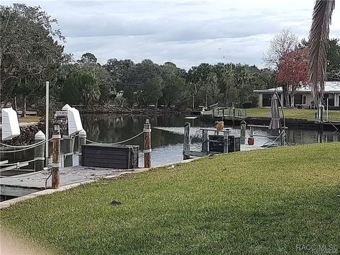
<svg viewBox="0 0 340 255"><path fill-rule="evenodd" d="M309 79L315 103L322 103L324 80L326 79L326 60L329 48L329 24L335 0L315 2L312 27L310 28Z"/></svg>

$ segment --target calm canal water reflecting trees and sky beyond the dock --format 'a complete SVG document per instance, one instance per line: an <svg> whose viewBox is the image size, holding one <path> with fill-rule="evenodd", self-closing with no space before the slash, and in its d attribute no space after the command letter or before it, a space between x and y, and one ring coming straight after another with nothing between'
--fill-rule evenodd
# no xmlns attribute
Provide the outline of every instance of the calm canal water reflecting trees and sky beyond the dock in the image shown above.
<svg viewBox="0 0 340 255"><path fill-rule="evenodd" d="M140 115L82 115L84 130L89 140L95 142L120 142L142 132L145 123L145 116ZM152 125L152 165L169 164L183 159L183 125L191 123L191 150L201 149L200 128L212 127L212 123L200 118L188 119L186 115L158 115L151 117ZM257 135L277 136L278 134L268 129L261 129L255 132ZM288 145L298 145L318 142L320 134L316 130L291 130L286 131ZM231 130L231 135L240 135L239 127ZM249 130L246 130L246 137ZM323 142L340 141L340 132L323 132ZM255 145L271 144L276 140L270 137L255 137ZM140 145L142 151L143 138L135 138L127 142L128 145ZM251 149L249 146L242 146L241 150ZM140 152L140 166L143 165L142 152Z"/></svg>

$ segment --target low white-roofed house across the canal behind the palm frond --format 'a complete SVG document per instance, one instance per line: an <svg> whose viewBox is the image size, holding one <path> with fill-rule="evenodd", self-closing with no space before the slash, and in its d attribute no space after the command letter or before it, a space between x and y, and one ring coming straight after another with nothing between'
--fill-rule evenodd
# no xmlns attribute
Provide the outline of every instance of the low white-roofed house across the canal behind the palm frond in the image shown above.
<svg viewBox="0 0 340 255"><path fill-rule="evenodd" d="M262 90L254 90L259 94L259 107L271 106L271 97L275 93L275 91L280 96L280 100L285 102L285 98L283 96L282 87L273 88L273 89L262 89ZM324 82L324 99L328 100L329 106L340 106L340 81L325 81ZM309 108L314 103L314 98L310 92L309 87L302 87L297 89L294 96L295 106L303 106L305 108Z"/></svg>

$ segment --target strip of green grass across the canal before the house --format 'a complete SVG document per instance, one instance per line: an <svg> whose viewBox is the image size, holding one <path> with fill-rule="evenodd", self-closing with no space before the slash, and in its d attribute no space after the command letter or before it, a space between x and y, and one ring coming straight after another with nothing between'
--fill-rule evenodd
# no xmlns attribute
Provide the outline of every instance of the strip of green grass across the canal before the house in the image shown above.
<svg viewBox="0 0 340 255"><path fill-rule="evenodd" d="M311 109L297 109L297 108L285 108L285 118L296 118L304 120L312 120L315 116L315 110ZM207 114L211 114L211 111L207 111ZM217 112L216 112L217 113ZM271 108L250 108L246 109L248 117L271 117ZM222 110L218 114L222 114ZM229 110L225 111L225 115L229 114ZM326 113L324 113L326 118ZM340 120L340 111L329 111L329 120Z"/></svg>

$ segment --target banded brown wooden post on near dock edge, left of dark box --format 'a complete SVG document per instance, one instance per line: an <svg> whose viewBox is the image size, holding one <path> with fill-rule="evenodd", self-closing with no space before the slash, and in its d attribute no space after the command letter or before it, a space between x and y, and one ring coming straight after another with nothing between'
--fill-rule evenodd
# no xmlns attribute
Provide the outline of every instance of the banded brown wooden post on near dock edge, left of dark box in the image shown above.
<svg viewBox="0 0 340 255"><path fill-rule="evenodd" d="M52 188L60 186L60 125L54 124L53 128L53 154L52 154Z"/></svg>

